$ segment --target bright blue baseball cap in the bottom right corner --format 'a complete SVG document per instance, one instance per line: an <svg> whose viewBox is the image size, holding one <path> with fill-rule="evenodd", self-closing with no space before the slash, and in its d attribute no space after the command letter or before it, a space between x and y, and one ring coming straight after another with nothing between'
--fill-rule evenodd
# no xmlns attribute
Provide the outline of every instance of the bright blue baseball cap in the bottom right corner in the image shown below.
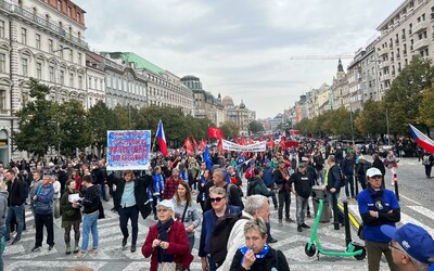
<svg viewBox="0 0 434 271"><path fill-rule="evenodd" d="M429 263L430 258L434 256L434 240L421 227L407 223L399 229L384 224L381 231L393 238L404 248L404 250L423 263Z"/></svg>

